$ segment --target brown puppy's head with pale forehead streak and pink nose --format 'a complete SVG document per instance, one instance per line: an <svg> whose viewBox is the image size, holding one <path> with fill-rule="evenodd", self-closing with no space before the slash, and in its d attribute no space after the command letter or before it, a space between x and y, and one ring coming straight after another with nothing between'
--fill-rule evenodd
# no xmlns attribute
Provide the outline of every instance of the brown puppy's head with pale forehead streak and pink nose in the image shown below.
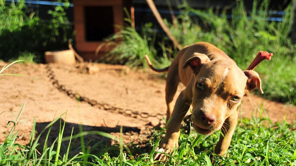
<svg viewBox="0 0 296 166"><path fill-rule="evenodd" d="M205 54L194 53L183 68L190 67L195 81L192 87L192 116L195 130L203 135L221 129L225 120L237 111L243 95L256 87L261 79L255 71L242 71L234 61L210 61Z"/></svg>

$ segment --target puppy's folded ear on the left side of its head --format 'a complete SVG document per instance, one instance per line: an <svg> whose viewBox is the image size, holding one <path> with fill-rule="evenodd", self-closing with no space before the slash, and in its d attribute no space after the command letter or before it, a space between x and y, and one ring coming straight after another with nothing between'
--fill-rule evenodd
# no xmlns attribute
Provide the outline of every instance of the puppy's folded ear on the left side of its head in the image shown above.
<svg viewBox="0 0 296 166"><path fill-rule="evenodd" d="M194 74L198 74L199 70L201 69L201 65L209 62L210 59L208 56L205 54L200 54L200 53L194 53L191 58L186 60L186 62L183 65L183 69L187 68L190 66Z"/></svg>

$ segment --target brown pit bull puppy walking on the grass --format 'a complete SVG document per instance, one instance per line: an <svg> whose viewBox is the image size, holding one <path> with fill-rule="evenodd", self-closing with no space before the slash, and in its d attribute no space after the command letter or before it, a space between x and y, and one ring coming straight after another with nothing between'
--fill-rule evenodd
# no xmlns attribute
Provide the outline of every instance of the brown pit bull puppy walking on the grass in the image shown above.
<svg viewBox="0 0 296 166"><path fill-rule="evenodd" d="M243 95L256 87L261 80L255 71L242 71L236 63L219 48L210 43L199 42L184 47L168 68L155 69L148 57L149 66L158 72L168 69L166 79L167 117L166 135L156 149L170 153L178 147L181 122L192 104L192 126L202 135L210 135L222 128L223 136L215 147L215 154L223 155L237 124L237 107ZM179 82L186 88L180 93L173 109L172 100ZM155 160L166 159L156 154Z"/></svg>

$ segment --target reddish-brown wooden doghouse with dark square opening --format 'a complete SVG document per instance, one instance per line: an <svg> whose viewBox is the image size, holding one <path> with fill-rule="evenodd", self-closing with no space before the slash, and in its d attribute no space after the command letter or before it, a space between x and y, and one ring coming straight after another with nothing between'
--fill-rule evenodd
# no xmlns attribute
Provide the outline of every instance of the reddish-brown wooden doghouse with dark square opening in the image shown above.
<svg viewBox="0 0 296 166"><path fill-rule="evenodd" d="M76 49L84 60L96 60L107 49L102 47L104 38L120 31L124 25L124 7L130 12L132 0L73 0Z"/></svg>

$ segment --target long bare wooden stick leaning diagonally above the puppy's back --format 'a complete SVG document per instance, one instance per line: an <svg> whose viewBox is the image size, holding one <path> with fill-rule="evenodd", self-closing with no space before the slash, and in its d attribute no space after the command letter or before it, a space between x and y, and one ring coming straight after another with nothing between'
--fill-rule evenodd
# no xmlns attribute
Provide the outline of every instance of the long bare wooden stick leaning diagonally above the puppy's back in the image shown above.
<svg viewBox="0 0 296 166"><path fill-rule="evenodd" d="M153 0L146 0L147 4L149 5L150 9L152 10L153 14L155 15L156 20L160 24L161 28L166 32L166 35L169 37L169 39L172 40L175 47L177 47L179 50L182 49L182 46L178 43L178 41L175 39L175 37L169 32L169 28L164 24L163 19L161 18L159 12L157 11L157 8L155 7L155 4Z"/></svg>

